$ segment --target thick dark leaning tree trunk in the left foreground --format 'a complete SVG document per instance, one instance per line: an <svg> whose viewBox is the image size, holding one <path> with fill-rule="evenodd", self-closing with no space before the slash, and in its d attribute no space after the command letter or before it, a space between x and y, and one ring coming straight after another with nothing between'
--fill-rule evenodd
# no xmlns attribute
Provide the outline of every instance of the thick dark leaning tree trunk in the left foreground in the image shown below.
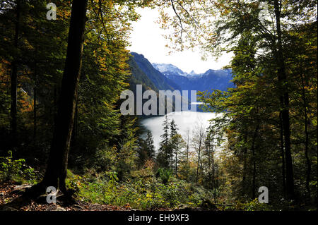
<svg viewBox="0 0 318 225"><path fill-rule="evenodd" d="M66 169L73 129L78 80L81 74L87 2L87 0L74 0L72 3L69 40L57 118L47 171L42 180L43 185L57 187L62 192L66 190Z"/></svg>

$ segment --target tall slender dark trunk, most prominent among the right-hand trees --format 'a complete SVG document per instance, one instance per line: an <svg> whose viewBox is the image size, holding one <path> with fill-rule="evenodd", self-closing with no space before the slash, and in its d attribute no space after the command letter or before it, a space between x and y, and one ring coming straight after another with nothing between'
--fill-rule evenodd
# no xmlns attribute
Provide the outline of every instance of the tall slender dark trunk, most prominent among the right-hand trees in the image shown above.
<svg viewBox="0 0 318 225"><path fill-rule="evenodd" d="M286 192L290 200L295 199L294 193L294 176L293 176L293 159L290 147L290 118L289 118L289 94L285 87L287 83L287 75L285 72L285 61L283 58L282 33L281 33L281 2L274 0L274 8L276 14L276 31L278 48L276 49L276 57L278 61L278 85L281 88L281 118L283 121L283 134L285 142L285 160L286 160Z"/></svg>

